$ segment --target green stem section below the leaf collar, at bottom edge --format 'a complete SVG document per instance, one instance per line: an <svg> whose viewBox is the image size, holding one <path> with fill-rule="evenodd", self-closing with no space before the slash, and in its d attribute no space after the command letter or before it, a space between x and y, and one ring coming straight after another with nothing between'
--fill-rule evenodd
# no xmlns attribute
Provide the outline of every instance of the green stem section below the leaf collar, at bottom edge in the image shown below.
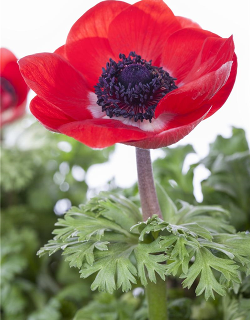
<svg viewBox="0 0 250 320"><path fill-rule="evenodd" d="M146 296L149 320L167 320L166 281L156 274L156 283L147 280Z"/></svg>

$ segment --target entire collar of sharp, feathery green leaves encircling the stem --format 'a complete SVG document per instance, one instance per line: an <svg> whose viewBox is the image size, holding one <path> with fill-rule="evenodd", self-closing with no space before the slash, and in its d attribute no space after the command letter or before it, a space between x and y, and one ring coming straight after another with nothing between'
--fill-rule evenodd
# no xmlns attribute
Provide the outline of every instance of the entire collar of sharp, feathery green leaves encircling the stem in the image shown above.
<svg viewBox="0 0 250 320"><path fill-rule="evenodd" d="M95 274L92 290L128 291L138 279L143 286L156 282L157 273L162 279L178 275L183 287L198 282L196 294L204 292L206 299L214 291L225 295L240 282L240 271L249 273L250 234L235 233L218 206L181 202L177 209L161 192L164 220L154 214L146 221L130 200L101 192L58 219L54 238L38 254L62 249L80 277Z"/></svg>

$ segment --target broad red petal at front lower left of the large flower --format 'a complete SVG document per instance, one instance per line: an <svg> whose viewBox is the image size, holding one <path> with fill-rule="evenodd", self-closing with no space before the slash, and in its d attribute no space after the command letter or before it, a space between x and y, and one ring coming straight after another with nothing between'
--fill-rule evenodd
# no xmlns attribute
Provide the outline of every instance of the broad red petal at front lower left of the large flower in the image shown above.
<svg viewBox="0 0 250 320"><path fill-rule="evenodd" d="M116 142L136 141L151 135L150 132L123 125L113 119L71 122L62 125L59 131L92 148L104 148Z"/></svg>

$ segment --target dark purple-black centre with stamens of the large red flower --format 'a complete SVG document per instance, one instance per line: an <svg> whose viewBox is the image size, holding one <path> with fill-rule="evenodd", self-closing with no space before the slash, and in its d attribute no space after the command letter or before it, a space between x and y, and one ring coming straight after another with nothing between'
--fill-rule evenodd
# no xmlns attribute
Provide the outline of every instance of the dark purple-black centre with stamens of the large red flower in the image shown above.
<svg viewBox="0 0 250 320"><path fill-rule="evenodd" d="M120 53L119 58L118 62L110 58L102 68L94 86L97 104L110 118L122 116L135 122L151 122L159 100L177 88L176 79L135 52L128 57Z"/></svg>

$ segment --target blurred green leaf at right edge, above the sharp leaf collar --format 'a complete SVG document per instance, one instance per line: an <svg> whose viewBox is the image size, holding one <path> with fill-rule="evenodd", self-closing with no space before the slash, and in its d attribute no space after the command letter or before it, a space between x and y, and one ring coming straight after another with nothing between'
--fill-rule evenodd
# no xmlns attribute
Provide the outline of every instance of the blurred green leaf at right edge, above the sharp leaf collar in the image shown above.
<svg viewBox="0 0 250 320"><path fill-rule="evenodd" d="M202 181L203 203L218 203L231 212L237 229L250 227L250 152L242 129L233 128L232 136L218 136L201 163L210 171Z"/></svg>

